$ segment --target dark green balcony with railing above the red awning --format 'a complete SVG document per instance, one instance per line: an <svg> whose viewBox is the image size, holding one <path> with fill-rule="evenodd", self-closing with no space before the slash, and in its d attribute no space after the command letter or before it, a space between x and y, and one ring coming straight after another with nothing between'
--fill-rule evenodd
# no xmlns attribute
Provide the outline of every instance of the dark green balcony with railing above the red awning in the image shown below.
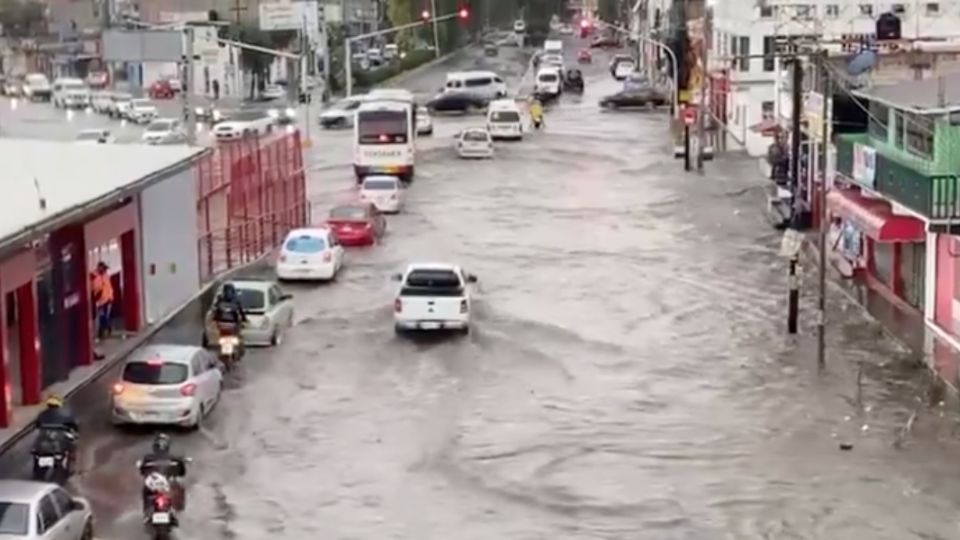
<svg viewBox="0 0 960 540"><path fill-rule="evenodd" d="M837 137L837 173L853 176L854 144L872 146L866 133ZM917 171L877 151L874 185L865 186L932 220L960 219L960 179Z"/></svg>

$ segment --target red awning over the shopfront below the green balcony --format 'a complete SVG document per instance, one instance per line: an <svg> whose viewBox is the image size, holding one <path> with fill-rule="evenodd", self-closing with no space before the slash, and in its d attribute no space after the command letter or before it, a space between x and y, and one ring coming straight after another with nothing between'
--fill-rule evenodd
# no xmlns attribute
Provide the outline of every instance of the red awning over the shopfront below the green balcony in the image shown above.
<svg viewBox="0 0 960 540"><path fill-rule="evenodd" d="M830 190L827 206L877 242L923 242L926 237L923 221L894 214L887 201L864 197L855 189Z"/></svg>

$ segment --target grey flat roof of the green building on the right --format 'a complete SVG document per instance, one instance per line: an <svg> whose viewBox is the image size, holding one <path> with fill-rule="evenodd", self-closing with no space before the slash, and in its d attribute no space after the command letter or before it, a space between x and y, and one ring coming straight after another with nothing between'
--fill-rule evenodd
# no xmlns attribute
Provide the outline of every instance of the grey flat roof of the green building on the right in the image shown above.
<svg viewBox="0 0 960 540"><path fill-rule="evenodd" d="M919 81L879 84L854 90L853 94L919 114L943 113L960 109L960 73Z"/></svg>

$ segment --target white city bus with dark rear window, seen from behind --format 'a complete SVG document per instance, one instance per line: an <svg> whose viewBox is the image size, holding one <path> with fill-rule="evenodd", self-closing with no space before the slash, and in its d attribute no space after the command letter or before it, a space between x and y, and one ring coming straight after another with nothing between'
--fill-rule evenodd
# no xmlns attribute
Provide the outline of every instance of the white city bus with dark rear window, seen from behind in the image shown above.
<svg viewBox="0 0 960 540"><path fill-rule="evenodd" d="M374 90L357 108L353 123L353 171L357 182L371 174L413 180L417 103L406 90Z"/></svg>

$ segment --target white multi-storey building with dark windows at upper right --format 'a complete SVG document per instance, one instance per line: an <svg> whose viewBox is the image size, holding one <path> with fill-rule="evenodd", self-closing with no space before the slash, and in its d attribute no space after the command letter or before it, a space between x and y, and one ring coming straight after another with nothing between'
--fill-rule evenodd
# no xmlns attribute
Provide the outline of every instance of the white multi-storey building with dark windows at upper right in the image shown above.
<svg viewBox="0 0 960 540"><path fill-rule="evenodd" d="M764 119L791 116L789 105L778 104L789 104L789 98L777 99L777 88L781 86L777 74L781 73L780 79L785 81L787 72L772 56L776 50L789 50L788 37L810 36L814 40L821 36L828 50L840 53L842 40L854 42L860 37L871 37L876 31L876 18L886 12L900 18L904 39L953 37L952 47L960 39L956 30L960 28L960 2L955 1L903 4L866 0L717 0L710 63L711 70L727 69L730 73L727 122L732 136L743 142L749 154L765 154L770 139L750 127Z"/></svg>

